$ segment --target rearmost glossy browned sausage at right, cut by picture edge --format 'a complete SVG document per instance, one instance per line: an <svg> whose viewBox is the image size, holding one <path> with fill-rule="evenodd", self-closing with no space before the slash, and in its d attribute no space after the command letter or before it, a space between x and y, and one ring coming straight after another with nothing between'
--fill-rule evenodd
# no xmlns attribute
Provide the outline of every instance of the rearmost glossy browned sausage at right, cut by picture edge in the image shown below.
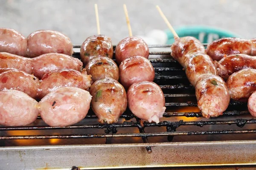
<svg viewBox="0 0 256 170"><path fill-rule="evenodd" d="M221 60L225 55L232 54L256 56L256 39L221 38L208 44L206 51L216 61Z"/></svg>

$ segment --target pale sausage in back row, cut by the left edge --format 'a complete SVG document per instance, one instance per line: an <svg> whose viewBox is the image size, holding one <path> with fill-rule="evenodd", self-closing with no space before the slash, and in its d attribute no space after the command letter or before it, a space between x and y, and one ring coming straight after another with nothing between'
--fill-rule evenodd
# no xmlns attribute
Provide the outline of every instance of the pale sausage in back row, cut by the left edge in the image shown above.
<svg viewBox="0 0 256 170"><path fill-rule="evenodd" d="M14 29L0 28L0 52L26 56L27 39Z"/></svg>

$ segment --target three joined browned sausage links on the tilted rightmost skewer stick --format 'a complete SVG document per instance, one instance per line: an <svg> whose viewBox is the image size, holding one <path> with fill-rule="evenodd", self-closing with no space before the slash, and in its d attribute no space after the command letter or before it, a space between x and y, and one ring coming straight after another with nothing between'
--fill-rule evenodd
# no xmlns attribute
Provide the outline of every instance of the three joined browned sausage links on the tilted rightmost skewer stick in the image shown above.
<svg viewBox="0 0 256 170"><path fill-rule="evenodd" d="M172 56L185 68L189 82L195 87L198 108L204 117L216 117L229 105L225 82L218 76L204 46L194 37L182 37L172 45ZM220 94L215 94L219 91Z"/></svg>

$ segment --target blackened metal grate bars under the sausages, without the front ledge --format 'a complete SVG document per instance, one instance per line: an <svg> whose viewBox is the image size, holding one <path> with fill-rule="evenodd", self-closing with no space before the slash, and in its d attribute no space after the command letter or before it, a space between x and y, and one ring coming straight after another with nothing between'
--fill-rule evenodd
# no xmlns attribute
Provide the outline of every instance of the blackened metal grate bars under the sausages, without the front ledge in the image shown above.
<svg viewBox="0 0 256 170"><path fill-rule="evenodd" d="M156 82L162 88L166 98L166 113L165 118L175 116L186 117L201 117L200 112L173 112L170 111L174 108L180 108L183 106L197 106L195 99L194 88L189 85L186 75L182 67L170 58L170 45L151 45L150 59L154 66ZM79 45L74 45L74 48L80 48ZM152 51L154 48L155 51ZM161 51L159 51L161 49ZM79 58L79 52L74 53L74 57ZM156 59L157 58L157 59ZM159 59L161 58L161 59ZM245 103L230 102L230 106L227 111L223 113L223 116L242 116L248 115L247 107ZM223 117L222 116L222 117ZM89 111L85 119L96 118L96 115ZM76 138L117 138L117 137L141 137L144 143L148 143L147 137L154 136L169 136L168 140L171 141L173 136L184 135L213 135L213 134L241 134L241 133L256 133L256 129L247 130L204 130L204 131L176 131L177 127L194 125L203 127L204 125L237 125L243 127L245 124L255 124L254 119L228 119L228 120L215 120L209 119L205 121L163 121L158 124L143 122L135 117L131 111L127 110L120 118L124 118L126 121L122 123L115 123L111 125L107 124L85 124L85 125L71 125L67 127L49 127L43 126L25 126L25 127L4 127L0 126L0 134L3 131L8 130L63 130L63 129L105 129L105 134L68 134L68 135L23 135L23 136L0 136L0 140L7 139L76 139ZM136 122L127 122L130 119L136 119ZM38 116L38 119L41 119ZM117 133L118 128L137 127L139 133ZM145 127L166 127L165 132L149 133L145 131ZM146 147L148 153L151 153L151 147Z"/></svg>

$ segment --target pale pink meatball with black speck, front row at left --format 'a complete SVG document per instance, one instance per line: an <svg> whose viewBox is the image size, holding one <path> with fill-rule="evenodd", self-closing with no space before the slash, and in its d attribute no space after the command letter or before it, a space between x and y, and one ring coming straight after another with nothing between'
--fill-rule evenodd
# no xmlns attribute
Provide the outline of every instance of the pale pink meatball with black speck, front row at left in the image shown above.
<svg viewBox="0 0 256 170"><path fill-rule="evenodd" d="M84 119L90 101L88 91L73 87L58 88L41 99L39 113L49 126L69 126Z"/></svg>

